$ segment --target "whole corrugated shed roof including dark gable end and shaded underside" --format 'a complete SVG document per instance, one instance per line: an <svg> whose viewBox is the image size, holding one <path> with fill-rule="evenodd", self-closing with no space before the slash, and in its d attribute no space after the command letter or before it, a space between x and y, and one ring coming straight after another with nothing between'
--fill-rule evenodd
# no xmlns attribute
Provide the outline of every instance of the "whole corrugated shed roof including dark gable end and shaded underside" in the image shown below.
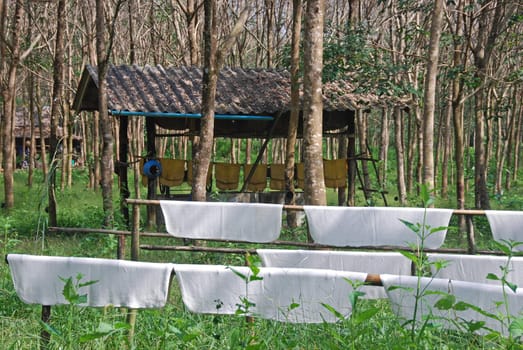
<svg viewBox="0 0 523 350"><path fill-rule="evenodd" d="M359 108L386 100L353 92L347 81L324 84L324 131L345 128ZM108 108L132 112L201 113L202 70L197 67L121 65L107 72ZM286 136L290 112L290 74L286 70L223 68L217 81L216 114L283 115L274 136ZM87 65L73 103L76 111L98 109L98 72ZM164 128L196 133L199 122L187 118L155 118ZM219 121L215 135L265 137L268 121ZM299 131L300 133L300 131Z"/></svg>

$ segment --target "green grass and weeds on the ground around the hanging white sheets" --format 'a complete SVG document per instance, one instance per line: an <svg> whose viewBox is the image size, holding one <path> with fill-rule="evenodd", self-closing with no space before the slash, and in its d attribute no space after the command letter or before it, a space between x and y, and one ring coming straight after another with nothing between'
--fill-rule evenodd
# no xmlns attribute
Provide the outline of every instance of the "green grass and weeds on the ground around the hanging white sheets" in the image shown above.
<svg viewBox="0 0 523 350"><path fill-rule="evenodd" d="M46 224L47 194L41 177L29 189L26 173L15 176L15 209L0 217L0 250L6 253L114 258L116 237L102 234L57 234L43 229ZM103 213L100 192L86 188L85 172L77 172L72 189L57 193L60 226L100 227ZM115 186L116 187L116 186ZM0 195L3 195L3 187ZM336 194L329 190L329 203ZM115 188L115 208L117 208ZM361 197L359 197L361 200ZM517 192L495 201L497 208L521 209ZM378 202L379 205L379 202ZM436 205L438 206L438 205ZM144 216L142 216L144 217ZM452 223L455 225L455 223ZM491 248L485 218L475 218L480 247ZM303 240L305 231L285 230L282 239ZM466 239L454 226L449 245L465 246ZM173 239L147 239L142 243L174 244ZM129 246L129 241L127 246ZM248 246L248 245L245 245ZM129 247L127 247L129 248ZM242 255L141 251L144 261L221 263L243 265ZM347 296L348 297L348 296ZM0 264L0 348L35 349L40 342L41 308L21 302L13 290L7 264ZM503 339L490 339L468 333L429 327L421 339L413 339L390 310L386 300L363 300L350 319L336 324L287 324L255 319L247 323L241 316L197 315L188 312L176 281L167 306L162 310L140 310L134 343L128 344L125 328L110 335L81 343L86 335L115 327L126 321L121 309L57 306L52 309L51 349L501 349L518 348Z"/></svg>

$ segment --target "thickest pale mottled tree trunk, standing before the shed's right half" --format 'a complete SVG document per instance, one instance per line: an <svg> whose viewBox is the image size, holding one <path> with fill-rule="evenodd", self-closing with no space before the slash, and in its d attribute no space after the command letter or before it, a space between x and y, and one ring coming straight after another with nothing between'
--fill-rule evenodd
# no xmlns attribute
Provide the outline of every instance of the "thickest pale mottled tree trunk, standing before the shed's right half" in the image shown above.
<svg viewBox="0 0 523 350"><path fill-rule="evenodd" d="M305 162L305 203L326 205L323 174L322 59L323 0L307 2L303 78L303 142Z"/></svg>

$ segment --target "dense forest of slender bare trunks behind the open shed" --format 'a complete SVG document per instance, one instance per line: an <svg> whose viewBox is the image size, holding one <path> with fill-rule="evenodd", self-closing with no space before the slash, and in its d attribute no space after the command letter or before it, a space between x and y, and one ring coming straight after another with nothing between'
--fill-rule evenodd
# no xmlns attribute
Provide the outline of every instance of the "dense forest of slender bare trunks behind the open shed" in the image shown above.
<svg viewBox="0 0 523 350"><path fill-rule="evenodd" d="M489 209L491 198L517 184L523 137L523 5L518 0L1 0L4 207L14 206L13 176L26 153L28 186L38 167L52 186L58 173L57 187L70 187L74 159L88 170L90 188L98 190L101 184L102 192L111 191L104 184L113 181L113 151L119 159L114 144L118 121L107 111L71 110L86 64L207 66L210 28L223 65L292 71L293 29L303 18L296 73L301 79L312 62L304 51L316 40L308 36L310 23L319 16L303 10L313 5L325 9L320 22L323 82L349 79L354 93L409 101L408 108L383 104L356 111L356 153L380 159L379 190L397 193L398 204L408 205L417 184L428 182L441 198L452 194L456 208ZM211 27L205 23L208 8L214 9ZM235 31L240 21L241 30ZM17 152L20 110L33 117L28 118L30 136ZM46 111L47 152L43 138L36 137ZM143 155L143 119L130 120L129 135L130 154ZM81 146L73 147L75 139L82 140ZM284 161L286 141L272 140L266 157ZM248 162L253 143L215 140L214 150L230 162ZM324 140L321 156L337 158L345 145L346 137ZM159 139L157 149L159 156L191 155L184 138ZM301 141L297 149L298 157L306 157ZM140 169L133 164L138 179ZM364 174L368 166L363 160ZM371 181L367 176L363 181ZM140 197L138 181L134 192ZM365 204L371 198L365 193Z"/></svg>

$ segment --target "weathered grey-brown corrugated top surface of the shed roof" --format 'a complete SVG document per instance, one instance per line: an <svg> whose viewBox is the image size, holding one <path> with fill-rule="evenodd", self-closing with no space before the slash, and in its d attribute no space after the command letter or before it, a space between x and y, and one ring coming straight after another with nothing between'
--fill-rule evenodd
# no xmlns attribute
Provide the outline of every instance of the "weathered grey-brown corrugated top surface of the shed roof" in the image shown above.
<svg viewBox="0 0 523 350"><path fill-rule="evenodd" d="M96 67L86 66L98 85ZM85 81L88 83L88 81ZM109 109L143 112L200 113L202 70L197 67L111 66L107 73ZM95 86L92 86L95 87ZM347 81L323 87L324 109L346 111L382 105L383 99L353 93ZM88 90L83 90L87 92ZM82 90L79 89L81 93ZM96 110L78 95L75 110ZM92 101L91 101L92 102ZM223 68L216 90L218 114L274 114L290 109L290 74L285 70Z"/></svg>

